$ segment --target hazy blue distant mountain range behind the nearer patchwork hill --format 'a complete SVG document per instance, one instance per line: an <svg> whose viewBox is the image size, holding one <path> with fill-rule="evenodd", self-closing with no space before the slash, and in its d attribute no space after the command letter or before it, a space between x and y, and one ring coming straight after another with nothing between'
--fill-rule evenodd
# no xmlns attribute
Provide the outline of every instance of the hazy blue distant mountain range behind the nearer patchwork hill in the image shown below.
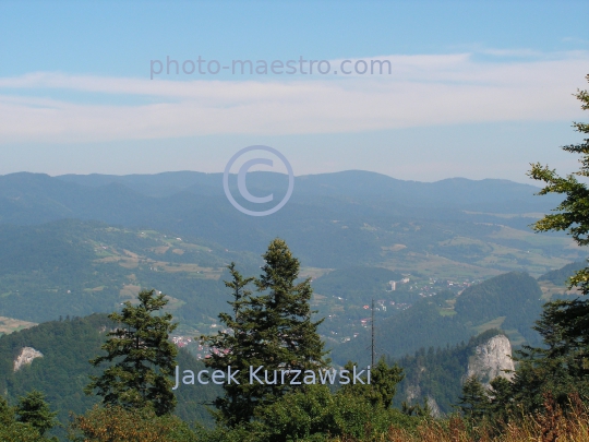
<svg viewBox="0 0 589 442"><path fill-rule="evenodd" d="M248 186L253 194L273 192L279 199L285 179L252 172ZM534 196L537 191L505 180L424 183L356 170L298 177L289 203L273 216L256 218L231 206L219 174L23 172L0 176L0 223L94 219L256 254L279 236L305 265L324 268L385 261L399 267L407 262L432 267L443 265L443 259L485 277L490 268L542 274L570 262L570 241L529 236L534 217L557 203ZM407 260L408 254L413 258Z"/></svg>

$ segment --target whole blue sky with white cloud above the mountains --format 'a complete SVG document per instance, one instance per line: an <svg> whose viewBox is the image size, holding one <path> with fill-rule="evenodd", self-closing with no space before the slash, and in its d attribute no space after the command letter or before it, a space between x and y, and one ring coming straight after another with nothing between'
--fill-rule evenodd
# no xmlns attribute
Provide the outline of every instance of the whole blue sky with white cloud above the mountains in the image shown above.
<svg viewBox="0 0 589 442"><path fill-rule="evenodd" d="M3 0L0 174L221 171L252 144L296 175L568 171L587 23L586 0ZM267 73L232 74L233 60ZM297 73L271 69L288 60Z"/></svg>

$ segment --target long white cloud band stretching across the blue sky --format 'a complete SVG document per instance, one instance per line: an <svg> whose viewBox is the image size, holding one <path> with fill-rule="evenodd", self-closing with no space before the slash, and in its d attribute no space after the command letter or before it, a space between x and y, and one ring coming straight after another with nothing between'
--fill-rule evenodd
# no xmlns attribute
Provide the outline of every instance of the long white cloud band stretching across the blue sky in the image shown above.
<svg viewBox="0 0 589 442"><path fill-rule="evenodd" d="M469 53L380 59L390 61L392 75L306 80L276 75L260 81L203 81L188 75L170 81L160 75L151 81L40 72L4 77L0 79L0 140L341 133L582 118L572 94L587 86L587 52L534 55L533 60L510 62L478 61ZM123 104L98 104L97 95Z"/></svg>

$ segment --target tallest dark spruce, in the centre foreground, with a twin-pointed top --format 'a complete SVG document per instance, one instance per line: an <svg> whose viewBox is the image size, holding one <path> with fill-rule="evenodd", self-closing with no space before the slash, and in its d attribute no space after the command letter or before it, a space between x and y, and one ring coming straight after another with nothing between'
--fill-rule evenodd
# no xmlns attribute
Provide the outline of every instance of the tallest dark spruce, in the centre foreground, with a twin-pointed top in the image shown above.
<svg viewBox="0 0 589 442"><path fill-rule="evenodd" d="M208 367L225 370L230 366L232 371L240 371L236 377L240 384L224 384L225 396L216 402L217 419L230 427L249 422L259 407L304 389L304 384L290 385L290 370L316 372L328 363L317 333L322 321L311 319L310 279L297 282L299 260L281 239L272 241L263 258L265 265L259 278L243 278L235 264L229 266L232 280L226 284L233 290L233 315L220 314L219 319L230 331L202 336L213 349L205 361ZM256 286L255 295L245 289L251 282ZM259 372L263 384L250 383L250 367L263 367Z"/></svg>

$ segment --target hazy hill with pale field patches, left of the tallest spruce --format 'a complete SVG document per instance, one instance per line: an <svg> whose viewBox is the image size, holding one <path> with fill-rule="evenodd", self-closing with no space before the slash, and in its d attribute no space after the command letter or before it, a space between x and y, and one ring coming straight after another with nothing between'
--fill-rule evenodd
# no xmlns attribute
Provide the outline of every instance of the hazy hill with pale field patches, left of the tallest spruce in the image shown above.
<svg viewBox="0 0 589 442"><path fill-rule="evenodd" d="M183 323L208 325L223 306L212 294L223 291L225 260L255 262L190 238L96 222L0 225L0 315L33 322L112 311L141 288L156 288L175 296L169 308L182 307Z"/></svg>

